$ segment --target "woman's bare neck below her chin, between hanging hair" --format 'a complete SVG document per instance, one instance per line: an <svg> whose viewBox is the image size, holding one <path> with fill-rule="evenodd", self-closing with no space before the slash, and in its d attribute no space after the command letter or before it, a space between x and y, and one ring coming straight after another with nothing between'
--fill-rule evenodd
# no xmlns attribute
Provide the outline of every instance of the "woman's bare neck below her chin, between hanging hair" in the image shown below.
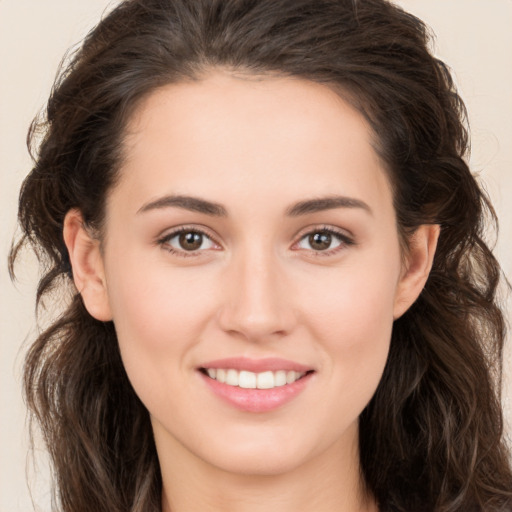
<svg viewBox="0 0 512 512"><path fill-rule="evenodd" d="M178 451L176 451L176 449ZM204 460L160 455L163 512L377 512L360 477L357 443L332 446L290 471L240 474Z"/></svg>

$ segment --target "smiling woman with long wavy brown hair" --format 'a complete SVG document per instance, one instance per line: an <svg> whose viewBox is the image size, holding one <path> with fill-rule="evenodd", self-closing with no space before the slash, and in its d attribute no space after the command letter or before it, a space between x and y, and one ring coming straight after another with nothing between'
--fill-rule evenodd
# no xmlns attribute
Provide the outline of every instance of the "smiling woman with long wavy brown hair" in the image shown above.
<svg viewBox="0 0 512 512"><path fill-rule="evenodd" d="M88 36L20 197L73 295L25 373L61 510L512 509L493 210L427 42L381 0Z"/></svg>

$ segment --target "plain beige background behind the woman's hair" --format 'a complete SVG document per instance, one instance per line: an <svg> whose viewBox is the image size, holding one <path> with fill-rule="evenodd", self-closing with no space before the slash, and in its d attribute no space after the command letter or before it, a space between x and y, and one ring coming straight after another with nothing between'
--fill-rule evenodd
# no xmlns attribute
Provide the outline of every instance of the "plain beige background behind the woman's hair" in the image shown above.
<svg viewBox="0 0 512 512"><path fill-rule="evenodd" d="M16 286L6 270L16 228L17 194L30 169L25 135L48 96L65 50L114 3L0 0L0 512L33 510L26 473L32 480L37 475L33 488L37 510L50 509L44 458L38 468L26 467L27 432L20 391L22 345L35 331L37 270L28 258ZM436 54L455 71L470 114L472 169L481 175L501 219L497 255L512 279L512 0L398 3L432 26ZM512 319L510 307L508 318ZM506 367L512 376L510 353ZM512 382L505 391L510 421Z"/></svg>

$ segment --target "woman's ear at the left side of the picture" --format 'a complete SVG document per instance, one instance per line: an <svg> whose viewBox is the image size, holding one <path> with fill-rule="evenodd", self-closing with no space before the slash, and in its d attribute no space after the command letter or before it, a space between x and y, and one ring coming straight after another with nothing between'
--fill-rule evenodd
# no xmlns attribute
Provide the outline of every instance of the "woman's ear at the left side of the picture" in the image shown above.
<svg viewBox="0 0 512 512"><path fill-rule="evenodd" d="M80 211L74 209L66 214L63 236L73 280L87 311L96 320L112 320L100 242L86 228Z"/></svg>

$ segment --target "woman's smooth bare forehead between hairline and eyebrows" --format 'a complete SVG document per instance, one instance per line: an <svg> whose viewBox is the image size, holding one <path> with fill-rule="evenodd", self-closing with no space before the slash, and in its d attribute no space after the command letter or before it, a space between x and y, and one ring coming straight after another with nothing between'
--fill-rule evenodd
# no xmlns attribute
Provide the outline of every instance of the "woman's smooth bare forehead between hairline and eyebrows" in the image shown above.
<svg viewBox="0 0 512 512"><path fill-rule="evenodd" d="M389 196L371 129L332 89L225 72L141 102L127 126L120 185L139 202L164 192L242 204L334 188L366 200Z"/></svg>

